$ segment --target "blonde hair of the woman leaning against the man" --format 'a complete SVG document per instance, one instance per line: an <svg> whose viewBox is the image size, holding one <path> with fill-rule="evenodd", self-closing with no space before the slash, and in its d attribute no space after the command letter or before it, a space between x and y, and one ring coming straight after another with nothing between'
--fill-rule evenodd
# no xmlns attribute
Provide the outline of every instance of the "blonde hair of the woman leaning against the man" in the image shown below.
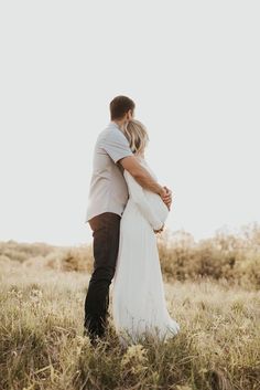
<svg viewBox="0 0 260 390"><path fill-rule="evenodd" d="M132 152L136 154L144 150L149 141L149 136L145 126L141 122L137 119L129 120L123 133Z"/></svg>

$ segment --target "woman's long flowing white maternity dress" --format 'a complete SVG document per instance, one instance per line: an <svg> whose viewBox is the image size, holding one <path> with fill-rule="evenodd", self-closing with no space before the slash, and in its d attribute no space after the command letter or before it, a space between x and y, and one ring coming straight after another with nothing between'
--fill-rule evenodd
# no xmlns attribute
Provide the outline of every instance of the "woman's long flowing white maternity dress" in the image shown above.
<svg viewBox="0 0 260 390"><path fill-rule="evenodd" d="M144 159L140 162L156 179ZM180 325L171 318L164 295L156 235L169 209L161 197L144 190L124 170L129 200L120 222L120 241L112 280L112 317L122 344L138 342L143 333L166 339Z"/></svg>

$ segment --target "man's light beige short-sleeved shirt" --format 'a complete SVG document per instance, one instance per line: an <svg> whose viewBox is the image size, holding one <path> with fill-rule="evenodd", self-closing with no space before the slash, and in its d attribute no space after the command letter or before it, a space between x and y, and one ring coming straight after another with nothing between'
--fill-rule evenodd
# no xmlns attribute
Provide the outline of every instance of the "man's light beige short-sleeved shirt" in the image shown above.
<svg viewBox="0 0 260 390"><path fill-rule="evenodd" d="M123 168L117 162L127 156L133 156L128 139L120 127L110 122L95 145L85 222L104 212L122 215L129 194Z"/></svg>

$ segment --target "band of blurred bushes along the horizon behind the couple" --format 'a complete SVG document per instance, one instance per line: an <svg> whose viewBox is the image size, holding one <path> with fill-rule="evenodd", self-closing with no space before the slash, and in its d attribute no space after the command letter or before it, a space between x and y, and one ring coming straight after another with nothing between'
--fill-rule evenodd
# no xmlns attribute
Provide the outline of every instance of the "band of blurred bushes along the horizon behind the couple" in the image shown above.
<svg viewBox="0 0 260 390"><path fill-rule="evenodd" d="M260 226L245 225L238 234L218 231L214 238L194 241L183 230L165 230L158 236L163 276L166 280L226 280L243 287L260 287ZM75 272L93 272L93 244L58 247L42 243L0 243L0 260Z"/></svg>

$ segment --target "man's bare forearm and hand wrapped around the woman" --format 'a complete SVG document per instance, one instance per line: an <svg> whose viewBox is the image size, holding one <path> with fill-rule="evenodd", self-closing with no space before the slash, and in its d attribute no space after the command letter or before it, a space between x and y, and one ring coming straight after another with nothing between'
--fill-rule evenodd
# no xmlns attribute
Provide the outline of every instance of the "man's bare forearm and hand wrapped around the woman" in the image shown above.
<svg viewBox="0 0 260 390"><path fill-rule="evenodd" d="M123 169L127 169L129 173L134 177L134 179L139 182L143 188L160 194L164 203L170 209L172 203L171 191L156 182L153 177L149 173L149 171L142 167L142 165L138 161L134 156L128 156L118 161Z"/></svg>

